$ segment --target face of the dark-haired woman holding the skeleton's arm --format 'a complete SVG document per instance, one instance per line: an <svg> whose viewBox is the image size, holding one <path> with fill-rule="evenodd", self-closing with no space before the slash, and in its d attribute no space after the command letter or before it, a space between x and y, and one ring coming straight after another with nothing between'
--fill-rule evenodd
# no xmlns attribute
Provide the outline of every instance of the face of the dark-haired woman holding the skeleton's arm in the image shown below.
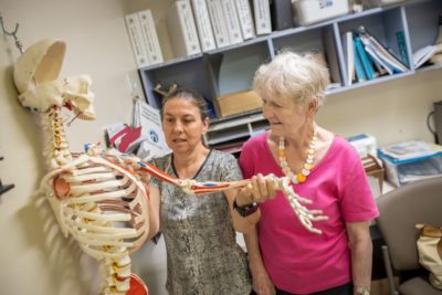
<svg viewBox="0 0 442 295"><path fill-rule="evenodd" d="M199 108L185 98L169 99L162 109L162 130L175 154L191 152L201 144L209 122L202 120Z"/></svg>

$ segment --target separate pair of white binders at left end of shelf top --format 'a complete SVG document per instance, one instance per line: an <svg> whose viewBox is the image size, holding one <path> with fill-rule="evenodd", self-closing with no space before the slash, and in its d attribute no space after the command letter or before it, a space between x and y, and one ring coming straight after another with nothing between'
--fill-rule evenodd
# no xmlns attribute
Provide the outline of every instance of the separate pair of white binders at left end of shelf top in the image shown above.
<svg viewBox="0 0 442 295"><path fill-rule="evenodd" d="M127 33L137 67L164 62L154 17L149 9L125 17Z"/></svg>

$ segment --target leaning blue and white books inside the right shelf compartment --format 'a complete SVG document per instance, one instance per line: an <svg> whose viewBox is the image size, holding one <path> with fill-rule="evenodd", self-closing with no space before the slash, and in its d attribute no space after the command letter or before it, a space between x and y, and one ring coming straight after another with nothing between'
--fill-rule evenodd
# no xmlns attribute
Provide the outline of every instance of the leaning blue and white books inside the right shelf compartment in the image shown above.
<svg viewBox="0 0 442 295"><path fill-rule="evenodd" d="M347 61L347 85L409 71L403 33L397 33L400 57L386 48L364 27L344 34Z"/></svg>

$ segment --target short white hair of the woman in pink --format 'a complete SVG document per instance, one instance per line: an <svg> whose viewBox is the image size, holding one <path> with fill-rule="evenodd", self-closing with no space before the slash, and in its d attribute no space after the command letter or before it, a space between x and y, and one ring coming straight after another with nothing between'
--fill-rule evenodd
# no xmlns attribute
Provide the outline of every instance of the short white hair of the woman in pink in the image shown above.
<svg viewBox="0 0 442 295"><path fill-rule="evenodd" d="M317 98L320 106L328 84L328 69L317 56L285 51L257 69L253 89L264 99L283 96L293 99L296 105L305 106Z"/></svg>

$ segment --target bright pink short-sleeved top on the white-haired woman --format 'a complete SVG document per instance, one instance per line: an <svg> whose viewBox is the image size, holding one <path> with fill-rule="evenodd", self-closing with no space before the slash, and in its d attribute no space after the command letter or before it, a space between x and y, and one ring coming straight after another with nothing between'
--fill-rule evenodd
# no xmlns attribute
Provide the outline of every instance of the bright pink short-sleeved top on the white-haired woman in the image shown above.
<svg viewBox="0 0 442 295"><path fill-rule="evenodd" d="M240 166L244 178L257 173L284 176L265 133L244 144ZM308 294L350 282L346 222L368 221L379 214L357 152L335 136L306 182L294 186L294 190L312 200L305 207L323 210L328 220L314 222L323 231L316 234L301 224L282 192L261 204L260 247L273 283L290 293Z"/></svg>

